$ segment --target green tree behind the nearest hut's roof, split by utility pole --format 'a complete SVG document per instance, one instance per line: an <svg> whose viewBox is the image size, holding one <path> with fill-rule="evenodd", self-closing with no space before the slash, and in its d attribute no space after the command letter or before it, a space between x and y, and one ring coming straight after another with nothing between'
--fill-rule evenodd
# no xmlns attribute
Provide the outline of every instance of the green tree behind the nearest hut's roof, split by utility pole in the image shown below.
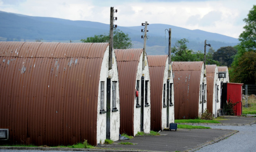
<svg viewBox="0 0 256 152"><path fill-rule="evenodd" d="M132 41L128 34L124 34L124 32L119 29L115 29L113 32L113 47L114 49L129 49L132 47ZM81 42L109 42L109 34L106 35L94 35L94 37L87 37L86 39L81 39Z"/></svg>

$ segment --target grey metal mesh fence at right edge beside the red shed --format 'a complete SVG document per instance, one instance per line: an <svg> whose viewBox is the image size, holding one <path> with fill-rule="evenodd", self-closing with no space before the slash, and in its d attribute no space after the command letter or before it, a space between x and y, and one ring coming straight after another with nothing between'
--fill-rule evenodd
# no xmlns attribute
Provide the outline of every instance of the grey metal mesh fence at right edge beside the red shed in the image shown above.
<svg viewBox="0 0 256 152"><path fill-rule="evenodd" d="M243 85L243 99L245 100L246 108L248 108L248 98L256 99L256 84Z"/></svg>

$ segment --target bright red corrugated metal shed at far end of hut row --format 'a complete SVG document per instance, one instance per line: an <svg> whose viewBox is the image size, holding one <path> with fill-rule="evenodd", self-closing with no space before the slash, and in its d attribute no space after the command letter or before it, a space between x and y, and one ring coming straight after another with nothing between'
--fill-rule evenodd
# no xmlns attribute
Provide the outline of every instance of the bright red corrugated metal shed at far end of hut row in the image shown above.
<svg viewBox="0 0 256 152"><path fill-rule="evenodd" d="M242 86L243 83L227 83L227 101L236 103L233 108L236 116L242 115Z"/></svg>

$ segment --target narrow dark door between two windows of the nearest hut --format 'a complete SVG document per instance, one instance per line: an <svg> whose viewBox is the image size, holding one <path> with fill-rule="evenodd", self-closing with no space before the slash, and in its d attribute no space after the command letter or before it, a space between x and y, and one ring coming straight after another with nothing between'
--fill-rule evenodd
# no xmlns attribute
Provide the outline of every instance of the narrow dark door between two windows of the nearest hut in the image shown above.
<svg viewBox="0 0 256 152"><path fill-rule="evenodd" d="M111 79L107 79L107 128L106 139L110 139L110 100L111 100Z"/></svg>

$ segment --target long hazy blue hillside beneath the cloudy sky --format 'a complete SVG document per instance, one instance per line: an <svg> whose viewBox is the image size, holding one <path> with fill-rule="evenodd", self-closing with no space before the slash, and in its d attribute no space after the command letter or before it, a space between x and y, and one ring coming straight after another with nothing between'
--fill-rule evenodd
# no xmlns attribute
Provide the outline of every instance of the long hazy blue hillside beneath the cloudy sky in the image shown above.
<svg viewBox="0 0 256 152"><path fill-rule="evenodd" d="M117 22L118 24L118 22ZM142 26L117 27L129 34L134 48L142 48L143 40L140 38ZM204 49L204 40L210 43L213 49L234 46L238 39L221 34L201 30L189 30L167 24L149 24L147 40L147 54L160 55L168 52L168 32L172 28L172 47L179 39L189 40L188 48L193 50ZM31 40L43 39L47 42L79 42L81 39L99 34L109 33L109 24L91 21L71 21L67 19L26 16L0 11L0 40Z"/></svg>

